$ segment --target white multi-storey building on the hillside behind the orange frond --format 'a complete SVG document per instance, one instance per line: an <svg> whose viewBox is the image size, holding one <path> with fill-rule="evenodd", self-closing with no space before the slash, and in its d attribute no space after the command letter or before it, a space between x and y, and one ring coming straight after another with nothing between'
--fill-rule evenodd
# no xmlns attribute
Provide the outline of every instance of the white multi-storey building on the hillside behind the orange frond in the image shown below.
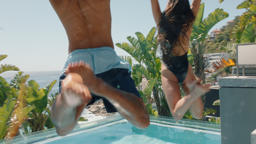
<svg viewBox="0 0 256 144"><path fill-rule="evenodd" d="M220 61L221 58L224 58L225 60L229 59L230 58L230 53L227 53L227 52L217 52L217 53L208 53L208 54L204 54L204 56L207 57L207 61L208 61L208 67L207 69L209 68L213 68L212 67L212 63L214 62L215 64L217 64L216 61ZM218 65L218 64L217 64ZM211 74L215 74L217 73L217 71L213 72L213 73L205 73L205 76L206 78L207 77L210 77Z"/></svg>

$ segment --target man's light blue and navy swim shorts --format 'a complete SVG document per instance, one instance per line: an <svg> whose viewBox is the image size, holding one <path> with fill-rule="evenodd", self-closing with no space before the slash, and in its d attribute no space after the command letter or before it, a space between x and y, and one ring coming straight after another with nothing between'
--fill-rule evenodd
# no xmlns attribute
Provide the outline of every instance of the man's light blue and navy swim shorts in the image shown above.
<svg viewBox="0 0 256 144"><path fill-rule="evenodd" d="M84 61L90 64L94 74L104 82L123 91L127 91L141 98L139 91L131 78L131 65L123 61L111 47L100 47L92 49L77 49L68 55L63 72L59 79L59 91L61 91L61 81L65 79L65 68L68 63ZM92 94L91 105L102 97ZM102 98L107 113L117 112L116 108L107 99Z"/></svg>

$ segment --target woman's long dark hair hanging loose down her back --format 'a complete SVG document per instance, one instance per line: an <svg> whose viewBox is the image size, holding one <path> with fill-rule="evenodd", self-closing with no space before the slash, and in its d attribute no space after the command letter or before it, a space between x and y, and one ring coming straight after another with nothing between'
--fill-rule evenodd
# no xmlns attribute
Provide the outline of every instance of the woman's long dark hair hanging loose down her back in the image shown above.
<svg viewBox="0 0 256 144"><path fill-rule="evenodd" d="M168 1L168 5L161 14L161 20L158 24L158 44L163 56L177 55L173 52L173 47L177 43L181 46L179 36L186 37L186 32L191 28L194 20L195 16L190 9L188 0Z"/></svg>

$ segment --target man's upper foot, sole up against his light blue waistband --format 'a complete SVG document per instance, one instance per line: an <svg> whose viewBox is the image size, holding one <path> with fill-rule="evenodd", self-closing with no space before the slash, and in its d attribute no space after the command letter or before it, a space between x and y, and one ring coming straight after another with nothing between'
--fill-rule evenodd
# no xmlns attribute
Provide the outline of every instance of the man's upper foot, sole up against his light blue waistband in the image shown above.
<svg viewBox="0 0 256 144"><path fill-rule="evenodd" d="M89 64L84 61L76 61L68 64L65 74L68 73L77 73L83 79L83 84L86 85L90 90L97 87L97 78L94 75Z"/></svg>

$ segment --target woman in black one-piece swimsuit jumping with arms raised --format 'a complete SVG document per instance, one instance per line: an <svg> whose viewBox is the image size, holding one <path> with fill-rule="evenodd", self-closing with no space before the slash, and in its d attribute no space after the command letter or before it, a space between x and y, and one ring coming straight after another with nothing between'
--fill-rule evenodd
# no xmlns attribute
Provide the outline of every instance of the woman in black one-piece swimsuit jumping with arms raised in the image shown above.
<svg viewBox="0 0 256 144"><path fill-rule="evenodd" d="M201 0L168 0L161 12L158 0L151 0L153 16L158 27L158 44L163 55L162 85L170 112L180 120L189 109L195 119L203 117L201 96L209 91L209 84L201 85L194 76L187 53L193 22ZM185 96L181 98L180 87Z"/></svg>

